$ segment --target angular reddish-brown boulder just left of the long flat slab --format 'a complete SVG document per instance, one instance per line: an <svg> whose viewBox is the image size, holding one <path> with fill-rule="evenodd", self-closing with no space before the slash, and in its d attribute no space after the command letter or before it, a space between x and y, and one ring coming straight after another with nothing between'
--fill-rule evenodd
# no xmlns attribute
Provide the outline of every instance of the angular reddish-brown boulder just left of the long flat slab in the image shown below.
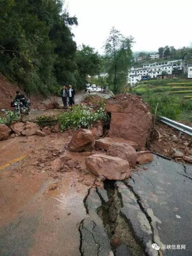
<svg viewBox="0 0 192 256"><path fill-rule="evenodd" d="M73 135L68 147L71 151L91 151L94 137L88 129L78 129Z"/></svg>

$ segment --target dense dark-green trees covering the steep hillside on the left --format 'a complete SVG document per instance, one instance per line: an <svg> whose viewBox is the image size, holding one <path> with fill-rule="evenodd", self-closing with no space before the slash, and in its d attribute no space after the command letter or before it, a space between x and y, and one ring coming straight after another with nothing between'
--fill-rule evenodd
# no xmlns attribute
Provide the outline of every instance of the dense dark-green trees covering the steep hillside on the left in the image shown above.
<svg viewBox="0 0 192 256"><path fill-rule="evenodd" d="M98 53L77 50L77 19L62 0L3 0L0 9L0 73L29 95L54 93L63 83L82 88L86 74L98 74Z"/></svg>

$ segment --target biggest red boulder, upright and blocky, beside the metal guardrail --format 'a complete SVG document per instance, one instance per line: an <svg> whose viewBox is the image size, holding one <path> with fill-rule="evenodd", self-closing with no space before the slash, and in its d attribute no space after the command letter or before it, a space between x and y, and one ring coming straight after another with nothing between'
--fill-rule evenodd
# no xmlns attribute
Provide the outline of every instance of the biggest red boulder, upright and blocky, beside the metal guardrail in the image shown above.
<svg viewBox="0 0 192 256"><path fill-rule="evenodd" d="M139 96L128 93L125 96L117 95L108 101L106 111L111 113L110 137L131 140L139 145L140 150L146 146L152 127L152 115Z"/></svg>

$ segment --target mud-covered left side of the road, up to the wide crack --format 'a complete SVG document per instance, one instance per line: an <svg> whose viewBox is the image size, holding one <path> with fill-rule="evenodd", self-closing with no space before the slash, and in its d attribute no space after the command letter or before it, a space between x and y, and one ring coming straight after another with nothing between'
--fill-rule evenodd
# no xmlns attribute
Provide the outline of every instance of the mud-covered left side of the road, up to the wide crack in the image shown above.
<svg viewBox="0 0 192 256"><path fill-rule="evenodd" d="M0 142L0 255L113 256L128 244L131 255L145 255L120 217L118 230L125 224L123 237L128 238L119 238L115 220L121 207L108 204L113 202L111 185L104 189L85 169L91 152L68 151L73 133Z"/></svg>

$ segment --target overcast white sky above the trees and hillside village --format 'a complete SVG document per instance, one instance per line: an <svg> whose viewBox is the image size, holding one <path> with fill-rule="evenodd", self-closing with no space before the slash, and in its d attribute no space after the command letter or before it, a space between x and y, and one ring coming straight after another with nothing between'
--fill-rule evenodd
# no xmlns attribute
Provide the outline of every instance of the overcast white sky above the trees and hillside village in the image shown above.
<svg viewBox="0 0 192 256"><path fill-rule="evenodd" d="M133 51L192 44L191 0L66 0L65 5L78 19L72 29L77 45L90 45L99 53L112 26L134 37Z"/></svg>

